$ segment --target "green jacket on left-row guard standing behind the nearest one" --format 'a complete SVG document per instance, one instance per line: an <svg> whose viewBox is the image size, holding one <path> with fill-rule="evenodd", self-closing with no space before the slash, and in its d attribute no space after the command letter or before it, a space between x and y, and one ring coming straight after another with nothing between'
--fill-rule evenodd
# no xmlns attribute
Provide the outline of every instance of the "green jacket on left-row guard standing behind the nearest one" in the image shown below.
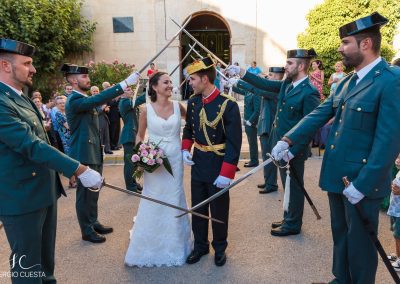
<svg viewBox="0 0 400 284"><path fill-rule="evenodd" d="M73 91L65 105L65 113L71 130L70 156L85 165L101 165L99 117L96 106L123 94L121 86L102 91L95 96L85 96Z"/></svg>

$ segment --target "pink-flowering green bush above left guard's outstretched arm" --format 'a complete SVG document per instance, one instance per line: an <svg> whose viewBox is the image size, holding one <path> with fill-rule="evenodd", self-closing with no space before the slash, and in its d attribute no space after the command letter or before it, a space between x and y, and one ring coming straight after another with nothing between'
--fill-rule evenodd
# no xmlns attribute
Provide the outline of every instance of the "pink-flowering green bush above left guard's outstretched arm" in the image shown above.
<svg viewBox="0 0 400 284"><path fill-rule="evenodd" d="M134 71L135 65L119 63L118 60L114 60L113 63L91 61L88 67L91 85L101 89L101 84L105 81L117 84L126 79Z"/></svg>

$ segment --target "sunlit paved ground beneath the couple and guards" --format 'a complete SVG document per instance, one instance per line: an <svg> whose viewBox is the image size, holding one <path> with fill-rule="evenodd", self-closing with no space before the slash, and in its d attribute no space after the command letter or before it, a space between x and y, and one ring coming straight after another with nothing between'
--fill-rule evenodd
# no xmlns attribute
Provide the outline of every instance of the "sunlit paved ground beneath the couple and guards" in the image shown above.
<svg viewBox="0 0 400 284"><path fill-rule="evenodd" d="M246 170L242 167L243 174ZM114 227L107 242L96 245L80 239L76 220L74 190L59 201L56 248L56 276L59 283L312 283L332 279L332 241L327 196L317 187L321 160L307 161L306 188L322 220L317 221L306 204L302 234L285 238L272 237L270 223L281 219L282 190L258 194L257 173L231 192L228 261L216 267L213 254L194 265L161 268L124 266L128 230L138 208L138 199L105 189L100 197L100 220ZM189 170L185 168L185 188L190 199ZM122 167L106 166L110 183L123 186ZM66 183L66 180L65 180ZM394 250L387 216L381 214L380 239L388 252ZM0 231L0 272L7 271L9 248L4 230ZM368 260L366 260L368 261ZM377 283L392 283L379 263ZM0 283L10 283L0 278Z"/></svg>

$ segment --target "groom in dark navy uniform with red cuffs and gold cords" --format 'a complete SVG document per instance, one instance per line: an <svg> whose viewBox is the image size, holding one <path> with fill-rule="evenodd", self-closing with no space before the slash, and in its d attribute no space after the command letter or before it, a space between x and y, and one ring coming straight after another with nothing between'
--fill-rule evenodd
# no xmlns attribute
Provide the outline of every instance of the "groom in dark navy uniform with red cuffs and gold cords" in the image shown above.
<svg viewBox="0 0 400 284"><path fill-rule="evenodd" d="M211 58L197 60L187 67L190 86L195 95L188 100L186 125L183 129L183 161L192 166L192 206L199 204L235 177L242 145L239 107L234 99L221 94L214 85L216 70ZM190 150L194 145L193 157ZM219 219L224 224L212 223L215 265L226 262L228 245L229 192L209 205L196 210ZM208 220L192 217L194 250L186 263L193 264L209 253Z"/></svg>

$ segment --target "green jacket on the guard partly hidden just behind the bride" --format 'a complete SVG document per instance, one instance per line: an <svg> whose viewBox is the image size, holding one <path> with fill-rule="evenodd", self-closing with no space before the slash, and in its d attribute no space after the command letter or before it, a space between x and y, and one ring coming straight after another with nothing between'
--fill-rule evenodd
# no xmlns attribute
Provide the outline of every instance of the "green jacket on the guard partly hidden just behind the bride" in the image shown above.
<svg viewBox="0 0 400 284"><path fill-rule="evenodd" d="M136 98L134 105L132 100L128 98L122 98L119 100L119 113L121 114L124 127L122 127L121 135L119 137L119 143L135 143L137 133L137 115L136 108L146 102L146 94L142 94Z"/></svg>

